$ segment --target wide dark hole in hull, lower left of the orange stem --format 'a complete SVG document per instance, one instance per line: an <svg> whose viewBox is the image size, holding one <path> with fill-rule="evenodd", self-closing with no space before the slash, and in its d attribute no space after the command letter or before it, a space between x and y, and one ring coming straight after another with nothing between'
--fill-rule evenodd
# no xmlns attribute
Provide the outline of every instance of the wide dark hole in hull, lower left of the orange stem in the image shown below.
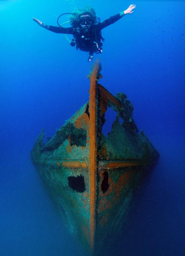
<svg viewBox="0 0 185 256"><path fill-rule="evenodd" d="M72 188L73 190L75 190L77 192L83 193L86 190L84 176L82 176L82 175L78 175L77 177L69 176L68 184L69 184L70 188Z"/></svg>

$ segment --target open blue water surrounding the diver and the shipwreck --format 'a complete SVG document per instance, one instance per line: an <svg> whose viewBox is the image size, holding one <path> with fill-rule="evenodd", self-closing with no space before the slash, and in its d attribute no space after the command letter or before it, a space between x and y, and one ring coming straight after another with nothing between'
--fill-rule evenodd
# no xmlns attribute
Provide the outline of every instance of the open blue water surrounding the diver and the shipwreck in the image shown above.
<svg viewBox="0 0 185 256"><path fill-rule="evenodd" d="M86 255L29 159L42 128L53 136L88 101L90 86L88 53L76 51L63 35L39 27L32 17L55 26L60 14L85 3L103 21L132 2L0 1L2 256ZM127 95L139 130L160 160L134 199L126 235L120 234L104 255L184 255L185 3L135 3L133 14L102 30L100 83L112 94Z"/></svg>

